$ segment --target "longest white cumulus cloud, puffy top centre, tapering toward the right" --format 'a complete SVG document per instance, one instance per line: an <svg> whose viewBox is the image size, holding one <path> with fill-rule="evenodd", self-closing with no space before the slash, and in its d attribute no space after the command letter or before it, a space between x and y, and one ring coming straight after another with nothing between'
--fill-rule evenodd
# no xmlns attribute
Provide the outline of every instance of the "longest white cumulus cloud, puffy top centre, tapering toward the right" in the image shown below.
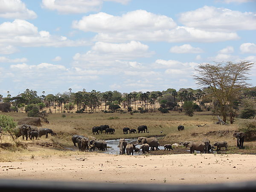
<svg viewBox="0 0 256 192"><path fill-rule="evenodd" d="M137 19L140 18L140 19ZM238 39L234 32L209 32L193 27L177 26L171 17L136 10L122 16L97 13L73 21L73 28L98 33L94 41L167 41L216 42Z"/></svg>

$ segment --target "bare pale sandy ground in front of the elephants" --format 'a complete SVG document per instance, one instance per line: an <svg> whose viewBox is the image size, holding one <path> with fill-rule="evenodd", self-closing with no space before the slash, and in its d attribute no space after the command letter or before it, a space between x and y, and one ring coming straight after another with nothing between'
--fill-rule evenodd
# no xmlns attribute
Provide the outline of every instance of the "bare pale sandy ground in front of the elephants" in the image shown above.
<svg viewBox="0 0 256 192"><path fill-rule="evenodd" d="M83 156L34 157L24 161L1 162L0 178L104 183L240 182L256 180L256 155L127 156L93 152Z"/></svg>

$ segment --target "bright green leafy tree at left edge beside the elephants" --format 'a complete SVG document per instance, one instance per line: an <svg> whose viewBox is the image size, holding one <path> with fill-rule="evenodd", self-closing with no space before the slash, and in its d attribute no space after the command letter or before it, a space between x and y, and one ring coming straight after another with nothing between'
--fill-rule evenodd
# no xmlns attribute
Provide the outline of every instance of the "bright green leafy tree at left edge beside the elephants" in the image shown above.
<svg viewBox="0 0 256 192"><path fill-rule="evenodd" d="M7 132L11 135L12 140L15 141L15 133L16 133L17 123L11 116L0 115L0 128L3 132Z"/></svg>

